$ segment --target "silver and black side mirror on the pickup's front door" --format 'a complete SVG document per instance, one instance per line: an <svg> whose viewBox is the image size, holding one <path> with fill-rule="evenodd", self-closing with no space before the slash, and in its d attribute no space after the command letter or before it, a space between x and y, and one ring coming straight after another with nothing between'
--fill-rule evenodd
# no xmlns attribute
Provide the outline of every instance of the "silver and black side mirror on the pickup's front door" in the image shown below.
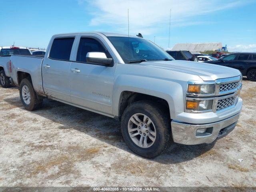
<svg viewBox="0 0 256 192"><path fill-rule="evenodd" d="M88 52L86 54L86 62L111 66L113 59L107 58L106 54L103 52Z"/></svg>

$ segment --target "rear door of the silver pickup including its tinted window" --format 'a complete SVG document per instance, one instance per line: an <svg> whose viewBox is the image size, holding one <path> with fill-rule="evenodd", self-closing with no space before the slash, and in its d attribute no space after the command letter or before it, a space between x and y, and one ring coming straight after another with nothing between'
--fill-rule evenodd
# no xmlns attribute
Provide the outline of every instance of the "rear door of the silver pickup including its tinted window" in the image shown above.
<svg viewBox="0 0 256 192"><path fill-rule="evenodd" d="M43 88L47 96L65 102L70 98L70 55L74 36L56 37L42 66ZM49 50L49 48L48 48Z"/></svg>

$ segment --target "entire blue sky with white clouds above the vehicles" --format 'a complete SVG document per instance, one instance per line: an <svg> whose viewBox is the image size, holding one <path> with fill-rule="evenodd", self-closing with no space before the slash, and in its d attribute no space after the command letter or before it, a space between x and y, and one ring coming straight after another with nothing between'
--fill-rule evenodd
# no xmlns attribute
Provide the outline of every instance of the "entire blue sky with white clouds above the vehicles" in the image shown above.
<svg viewBox="0 0 256 192"><path fill-rule="evenodd" d="M256 0L0 0L0 46L47 48L53 34L117 32L256 52ZM171 9L171 22L170 22ZM170 22L170 42L169 42Z"/></svg>

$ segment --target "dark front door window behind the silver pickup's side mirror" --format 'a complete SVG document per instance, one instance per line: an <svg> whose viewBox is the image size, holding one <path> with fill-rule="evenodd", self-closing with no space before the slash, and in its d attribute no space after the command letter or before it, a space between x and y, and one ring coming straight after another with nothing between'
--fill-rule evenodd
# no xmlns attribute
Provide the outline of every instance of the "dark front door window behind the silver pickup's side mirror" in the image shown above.
<svg viewBox="0 0 256 192"><path fill-rule="evenodd" d="M96 39L81 38L77 51L76 61L86 62L86 54L88 52L104 52L107 58L111 57L106 49Z"/></svg>

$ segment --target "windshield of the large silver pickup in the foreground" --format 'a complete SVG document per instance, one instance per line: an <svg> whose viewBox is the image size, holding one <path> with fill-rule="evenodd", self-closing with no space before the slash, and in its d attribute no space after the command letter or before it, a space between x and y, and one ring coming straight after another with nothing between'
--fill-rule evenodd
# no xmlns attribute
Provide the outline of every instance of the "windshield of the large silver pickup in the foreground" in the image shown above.
<svg viewBox="0 0 256 192"><path fill-rule="evenodd" d="M141 60L174 60L166 51L156 44L142 38L108 37L110 42L120 54L124 63Z"/></svg>

